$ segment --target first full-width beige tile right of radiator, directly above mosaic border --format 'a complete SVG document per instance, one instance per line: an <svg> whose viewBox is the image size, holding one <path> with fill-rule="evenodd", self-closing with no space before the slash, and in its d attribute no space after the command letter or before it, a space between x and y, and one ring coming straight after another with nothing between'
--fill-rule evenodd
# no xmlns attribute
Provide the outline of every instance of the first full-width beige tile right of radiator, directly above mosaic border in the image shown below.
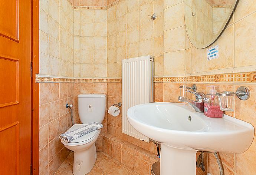
<svg viewBox="0 0 256 175"><path fill-rule="evenodd" d="M164 75L185 73L185 57L185 50L164 53Z"/></svg>

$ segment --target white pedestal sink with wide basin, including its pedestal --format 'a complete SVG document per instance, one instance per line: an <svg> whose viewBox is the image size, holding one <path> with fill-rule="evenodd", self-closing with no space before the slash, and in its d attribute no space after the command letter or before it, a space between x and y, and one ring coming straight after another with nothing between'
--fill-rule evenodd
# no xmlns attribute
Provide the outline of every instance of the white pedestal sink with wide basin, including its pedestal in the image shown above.
<svg viewBox="0 0 256 175"><path fill-rule="evenodd" d="M208 118L184 103L136 105L127 118L138 132L161 142L160 175L196 175L197 151L242 153L254 137L250 123L227 115Z"/></svg>

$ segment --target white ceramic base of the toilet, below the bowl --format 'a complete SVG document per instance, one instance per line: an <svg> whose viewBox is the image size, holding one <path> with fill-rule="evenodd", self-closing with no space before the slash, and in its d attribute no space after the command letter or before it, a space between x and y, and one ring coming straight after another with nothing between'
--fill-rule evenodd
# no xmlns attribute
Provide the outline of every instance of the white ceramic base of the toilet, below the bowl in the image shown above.
<svg viewBox="0 0 256 175"><path fill-rule="evenodd" d="M84 151L75 151L73 174L85 175L90 172L96 162L97 152L95 143Z"/></svg>

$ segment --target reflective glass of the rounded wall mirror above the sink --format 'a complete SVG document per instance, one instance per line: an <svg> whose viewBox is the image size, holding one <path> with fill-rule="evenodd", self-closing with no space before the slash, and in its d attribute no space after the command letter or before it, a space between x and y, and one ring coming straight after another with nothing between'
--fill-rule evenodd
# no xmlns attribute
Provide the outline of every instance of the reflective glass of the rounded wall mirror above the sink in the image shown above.
<svg viewBox="0 0 256 175"><path fill-rule="evenodd" d="M185 0L184 3L188 38L193 46L203 49L219 37L237 0Z"/></svg>

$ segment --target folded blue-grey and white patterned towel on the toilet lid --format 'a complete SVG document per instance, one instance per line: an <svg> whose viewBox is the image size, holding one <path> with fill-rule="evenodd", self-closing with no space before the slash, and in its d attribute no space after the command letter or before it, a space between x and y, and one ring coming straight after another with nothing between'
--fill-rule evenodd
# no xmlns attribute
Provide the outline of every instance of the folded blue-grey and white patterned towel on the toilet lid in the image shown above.
<svg viewBox="0 0 256 175"><path fill-rule="evenodd" d="M59 136L59 138L65 142L71 142L79 137L82 137L92 131L103 128L103 125L98 122L92 122L88 125L84 125L80 128L74 129L72 131L63 133Z"/></svg>

